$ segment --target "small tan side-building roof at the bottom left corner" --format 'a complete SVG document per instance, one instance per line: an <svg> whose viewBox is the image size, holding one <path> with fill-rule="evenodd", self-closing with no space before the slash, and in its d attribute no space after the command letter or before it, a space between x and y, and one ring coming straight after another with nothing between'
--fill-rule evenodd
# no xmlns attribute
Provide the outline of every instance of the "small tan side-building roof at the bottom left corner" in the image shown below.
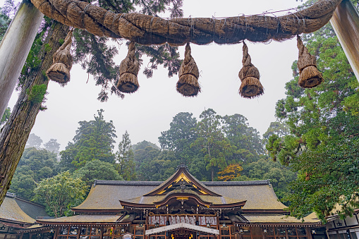
<svg viewBox="0 0 359 239"><path fill-rule="evenodd" d="M28 214L19 207L15 200L15 195L12 193L6 193L4 202L0 207L0 220L11 221L15 223L35 223L35 219L32 219Z"/></svg>

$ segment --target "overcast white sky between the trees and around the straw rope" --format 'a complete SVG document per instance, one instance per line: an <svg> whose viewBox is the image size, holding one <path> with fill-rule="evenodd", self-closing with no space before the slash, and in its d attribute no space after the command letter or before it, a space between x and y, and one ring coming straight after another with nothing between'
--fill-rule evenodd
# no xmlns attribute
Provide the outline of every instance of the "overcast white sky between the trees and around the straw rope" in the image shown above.
<svg viewBox="0 0 359 239"><path fill-rule="evenodd" d="M184 17L230 17L243 14L278 11L298 6L296 0L184 0ZM279 14L279 13L277 13ZM281 13L281 15L284 15ZM200 70L202 92L194 98L185 98L176 92L178 75L167 77L167 71L159 68L147 79L140 69L140 89L125 99L111 96L108 102L97 100L100 87L95 81L87 82L87 73L75 65L71 70L71 82L60 87L50 82L47 95L47 111L39 112L32 133L44 142L55 138L64 149L73 139L78 121L90 121L97 109L104 109L104 118L114 121L117 142L128 130L133 144L147 140L158 144L161 131L169 129L169 123L179 112L193 113L197 119L204 109L212 108L217 114L242 114L250 126L262 135L269 123L275 121L275 104L285 97L284 85L292 78L291 64L298 59L296 40L248 43L252 63L259 69L264 94L256 99L243 99L238 94L241 80L238 72L242 67L242 44L220 46L191 44L192 55ZM180 47L181 56L184 47ZM116 62L127 54L127 47L120 46ZM144 62L147 64L147 62ZM18 93L14 92L9 106L15 104ZM117 145L116 145L117 148Z"/></svg>

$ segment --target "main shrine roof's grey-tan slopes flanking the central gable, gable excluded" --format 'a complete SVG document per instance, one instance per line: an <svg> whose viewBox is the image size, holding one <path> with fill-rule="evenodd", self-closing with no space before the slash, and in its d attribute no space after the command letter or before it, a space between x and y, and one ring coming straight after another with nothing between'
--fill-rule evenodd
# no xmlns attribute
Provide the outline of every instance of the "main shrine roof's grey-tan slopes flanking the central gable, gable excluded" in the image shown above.
<svg viewBox="0 0 359 239"><path fill-rule="evenodd" d="M76 212L106 210L120 212L123 207L119 200L140 202L142 197L145 200L144 195L153 192L162 183L164 182L96 180L86 200L78 207L74 207L73 210ZM278 201L269 180L201 183L212 192L224 197L226 203L231 203L230 199L247 201L243 210L282 210L286 208ZM157 199L157 196L152 197ZM209 200L205 197L203 200ZM162 196L159 195L159 198Z"/></svg>

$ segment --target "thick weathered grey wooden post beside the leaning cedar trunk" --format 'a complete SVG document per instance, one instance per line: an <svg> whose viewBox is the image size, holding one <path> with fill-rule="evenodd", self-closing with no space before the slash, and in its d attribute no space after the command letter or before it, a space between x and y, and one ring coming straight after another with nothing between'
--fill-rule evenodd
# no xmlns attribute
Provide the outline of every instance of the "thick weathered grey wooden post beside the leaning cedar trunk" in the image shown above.
<svg viewBox="0 0 359 239"><path fill-rule="evenodd" d="M8 105L43 17L34 5L23 1L0 43L0 117Z"/></svg>

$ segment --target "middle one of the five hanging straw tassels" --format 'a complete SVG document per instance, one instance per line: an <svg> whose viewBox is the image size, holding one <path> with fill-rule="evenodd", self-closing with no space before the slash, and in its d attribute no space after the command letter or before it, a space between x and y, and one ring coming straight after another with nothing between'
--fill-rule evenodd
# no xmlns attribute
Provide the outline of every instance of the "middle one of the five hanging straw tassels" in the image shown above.
<svg viewBox="0 0 359 239"><path fill-rule="evenodd" d="M185 97L194 97L201 91L198 77L200 73L195 60L190 55L190 44L185 45L185 59L178 71L177 92Z"/></svg>

